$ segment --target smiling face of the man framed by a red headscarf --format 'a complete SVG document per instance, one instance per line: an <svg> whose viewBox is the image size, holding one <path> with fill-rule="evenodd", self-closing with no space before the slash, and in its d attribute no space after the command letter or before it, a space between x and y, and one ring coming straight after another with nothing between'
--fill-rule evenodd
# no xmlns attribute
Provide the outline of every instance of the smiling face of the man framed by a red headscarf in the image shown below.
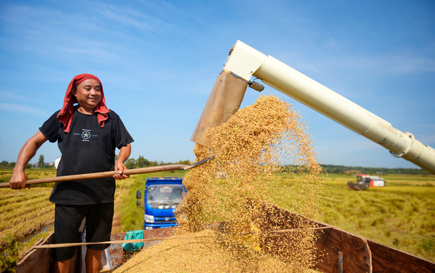
<svg viewBox="0 0 435 273"><path fill-rule="evenodd" d="M100 83L95 79L87 79L72 89L78 106L85 109L94 109L101 101Z"/></svg>

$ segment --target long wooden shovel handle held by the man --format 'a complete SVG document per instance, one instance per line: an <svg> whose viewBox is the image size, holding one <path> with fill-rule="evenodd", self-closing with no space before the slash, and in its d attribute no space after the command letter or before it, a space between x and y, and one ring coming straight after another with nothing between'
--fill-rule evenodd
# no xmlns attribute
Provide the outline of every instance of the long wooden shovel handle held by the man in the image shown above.
<svg viewBox="0 0 435 273"><path fill-rule="evenodd" d="M163 165L163 166L155 166L155 167L146 167L146 168L139 168L139 169L124 170L122 174L130 175L130 174L152 173L152 172L159 172L159 171L179 170L186 166L189 165L172 164L172 165ZM103 178L103 177L110 177L118 173L119 171L105 171L105 172L94 172L94 173L84 173L84 174L74 174L74 175L66 175L66 176L32 179L32 180L27 180L26 185ZM9 188L9 183L0 183L0 188Z"/></svg>

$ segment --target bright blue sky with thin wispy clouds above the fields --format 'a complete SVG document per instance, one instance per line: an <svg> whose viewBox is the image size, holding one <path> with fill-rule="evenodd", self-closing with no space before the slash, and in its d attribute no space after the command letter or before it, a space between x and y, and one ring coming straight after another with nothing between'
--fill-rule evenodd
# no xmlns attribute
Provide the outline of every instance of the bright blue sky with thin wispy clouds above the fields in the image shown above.
<svg viewBox="0 0 435 273"><path fill-rule="evenodd" d="M16 161L80 73L101 79L133 158L193 160L190 136L237 40L435 147L434 14L433 1L0 1L0 161ZM310 122L322 163L417 168L266 89ZM242 107L258 95L248 88ZM51 143L33 163L40 154L61 155Z"/></svg>

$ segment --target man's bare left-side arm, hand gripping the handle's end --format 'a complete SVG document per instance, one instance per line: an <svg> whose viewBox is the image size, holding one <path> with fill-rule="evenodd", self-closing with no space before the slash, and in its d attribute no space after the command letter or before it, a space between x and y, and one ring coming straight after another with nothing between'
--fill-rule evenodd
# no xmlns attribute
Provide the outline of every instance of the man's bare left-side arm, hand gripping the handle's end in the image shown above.
<svg viewBox="0 0 435 273"><path fill-rule="evenodd" d="M45 136L41 131L37 131L21 148L18 154L17 164L14 167L14 173L12 174L9 185L11 189L21 190L24 188L30 189L30 185L26 185L26 180L29 177L24 172L24 169L29 163L30 159L35 156L36 151L41 147L43 143L48 141L47 136Z"/></svg>

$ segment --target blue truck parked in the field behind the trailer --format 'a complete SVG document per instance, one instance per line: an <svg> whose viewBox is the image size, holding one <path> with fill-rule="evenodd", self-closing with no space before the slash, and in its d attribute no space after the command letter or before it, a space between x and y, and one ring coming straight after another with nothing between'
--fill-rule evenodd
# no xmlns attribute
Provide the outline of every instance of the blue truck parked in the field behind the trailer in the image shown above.
<svg viewBox="0 0 435 273"><path fill-rule="evenodd" d="M136 192L138 201L136 204L144 208L144 229L161 229L177 225L174 210L187 194L183 185L183 177L160 176L147 177L145 189ZM141 206L142 191L144 194L144 206Z"/></svg>

